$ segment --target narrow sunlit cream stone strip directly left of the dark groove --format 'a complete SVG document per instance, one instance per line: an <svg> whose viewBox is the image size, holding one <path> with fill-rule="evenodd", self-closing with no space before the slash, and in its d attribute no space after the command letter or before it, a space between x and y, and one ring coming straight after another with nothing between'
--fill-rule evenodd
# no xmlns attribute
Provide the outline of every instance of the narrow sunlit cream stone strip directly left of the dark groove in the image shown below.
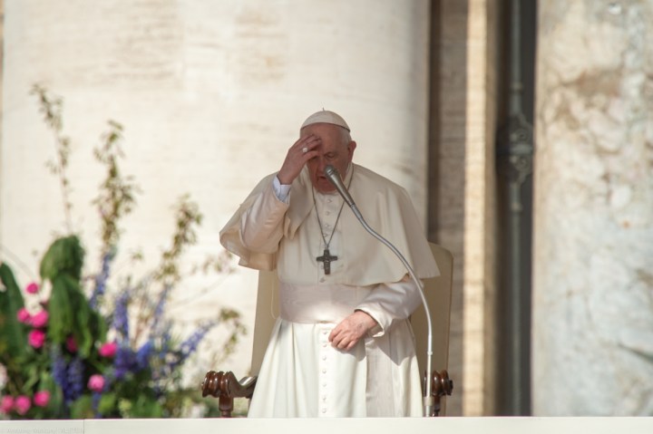
<svg viewBox="0 0 653 434"><path fill-rule="evenodd" d="M496 2L471 0L464 130L463 414L493 413Z"/></svg>

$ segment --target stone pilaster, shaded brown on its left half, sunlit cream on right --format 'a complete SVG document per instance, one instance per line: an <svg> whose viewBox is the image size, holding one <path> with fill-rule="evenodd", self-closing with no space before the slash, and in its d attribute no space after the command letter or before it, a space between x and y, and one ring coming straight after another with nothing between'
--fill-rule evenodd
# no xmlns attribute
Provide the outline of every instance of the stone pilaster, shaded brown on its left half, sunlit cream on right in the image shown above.
<svg viewBox="0 0 653 434"><path fill-rule="evenodd" d="M437 88L437 206L440 244L453 253L447 415L493 412L494 123L496 14L493 0L443 0ZM436 69L435 69L436 68Z"/></svg>

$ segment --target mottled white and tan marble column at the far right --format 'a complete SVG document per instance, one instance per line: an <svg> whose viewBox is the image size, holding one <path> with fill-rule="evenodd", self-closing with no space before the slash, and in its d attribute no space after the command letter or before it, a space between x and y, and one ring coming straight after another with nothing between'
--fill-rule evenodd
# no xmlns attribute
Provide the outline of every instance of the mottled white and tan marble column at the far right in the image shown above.
<svg viewBox="0 0 653 434"><path fill-rule="evenodd" d="M542 0L533 412L653 413L653 4Z"/></svg>

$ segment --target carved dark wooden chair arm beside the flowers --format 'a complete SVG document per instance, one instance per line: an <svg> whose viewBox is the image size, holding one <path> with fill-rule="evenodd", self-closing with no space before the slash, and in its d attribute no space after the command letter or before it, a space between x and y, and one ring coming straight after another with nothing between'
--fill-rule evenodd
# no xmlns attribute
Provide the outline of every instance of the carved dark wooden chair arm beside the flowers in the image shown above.
<svg viewBox="0 0 653 434"><path fill-rule="evenodd" d="M250 399L254 394L257 377L243 377L238 381L233 372L208 371L201 383L202 397L208 395L219 399L220 415L230 418L234 398Z"/></svg>

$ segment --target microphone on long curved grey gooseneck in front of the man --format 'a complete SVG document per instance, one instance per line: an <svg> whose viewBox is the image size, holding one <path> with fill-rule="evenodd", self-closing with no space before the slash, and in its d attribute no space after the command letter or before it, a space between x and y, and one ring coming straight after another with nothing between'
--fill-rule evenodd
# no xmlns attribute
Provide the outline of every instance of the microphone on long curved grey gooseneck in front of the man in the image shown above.
<svg viewBox="0 0 653 434"><path fill-rule="evenodd" d="M353 167L352 167L353 170ZM417 289L419 289L420 296L422 297L422 304L424 304L424 313L426 313L426 324L428 326L428 342L426 342L426 379L425 379L425 390L424 390L424 416L429 417L429 416L434 416L435 415L435 399L432 396L432 391L433 391L433 384L432 384L432 366L433 366L433 323L431 322L431 311L429 310L428 304L426 303L426 296L424 295L424 284L422 284L422 281L419 280L417 275L415 275L413 267L408 264L408 261L406 261L405 257L399 252L399 250L393 246L392 243L390 243L388 240L386 240L383 236L380 236L379 234L376 233L376 231L367 225L367 222L365 222L365 218L363 218L363 215L361 215L360 211L358 211L358 207L356 207L356 204L354 203L354 199L352 199L351 195L349 194L349 191L346 189L345 184L342 182L342 178L340 178L340 174L330 164L327 165L325 168L325 174L327 174L327 178L331 181L331 183L334 185L336 190L338 190L338 193L340 193L340 196L342 196L345 199L345 202L347 205L352 209L354 212L354 215L358 219L358 221L365 227L365 230L370 233L370 235L374 236L377 240L381 241L385 246L387 246L390 250L393 251L393 253L401 260L402 264L404 264L405 269L408 271L408 274L411 276L413 279L414 285L417 286Z"/></svg>

